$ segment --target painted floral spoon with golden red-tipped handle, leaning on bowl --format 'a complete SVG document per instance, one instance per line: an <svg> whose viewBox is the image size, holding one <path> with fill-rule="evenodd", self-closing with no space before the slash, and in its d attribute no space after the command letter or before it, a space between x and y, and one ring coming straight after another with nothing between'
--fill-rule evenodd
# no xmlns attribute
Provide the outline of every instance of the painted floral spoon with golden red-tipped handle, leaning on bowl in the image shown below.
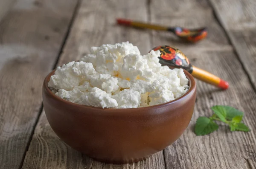
<svg viewBox="0 0 256 169"><path fill-rule="evenodd" d="M220 79L219 77L209 73L203 69L197 68L189 62L189 59L177 48L173 48L167 45L157 46L152 50L161 52L160 63L178 68L183 68L192 74L193 77L211 85L217 86L221 89L227 89L229 87L228 82Z"/></svg>

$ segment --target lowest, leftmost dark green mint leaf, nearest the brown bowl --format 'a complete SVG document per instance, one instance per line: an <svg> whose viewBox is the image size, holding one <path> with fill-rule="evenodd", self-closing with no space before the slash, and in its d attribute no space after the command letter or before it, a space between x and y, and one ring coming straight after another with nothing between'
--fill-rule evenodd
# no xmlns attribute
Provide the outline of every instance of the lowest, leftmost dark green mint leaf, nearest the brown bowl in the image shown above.
<svg viewBox="0 0 256 169"><path fill-rule="evenodd" d="M195 124L196 135L207 135L218 129L218 124L207 117L199 117Z"/></svg>

